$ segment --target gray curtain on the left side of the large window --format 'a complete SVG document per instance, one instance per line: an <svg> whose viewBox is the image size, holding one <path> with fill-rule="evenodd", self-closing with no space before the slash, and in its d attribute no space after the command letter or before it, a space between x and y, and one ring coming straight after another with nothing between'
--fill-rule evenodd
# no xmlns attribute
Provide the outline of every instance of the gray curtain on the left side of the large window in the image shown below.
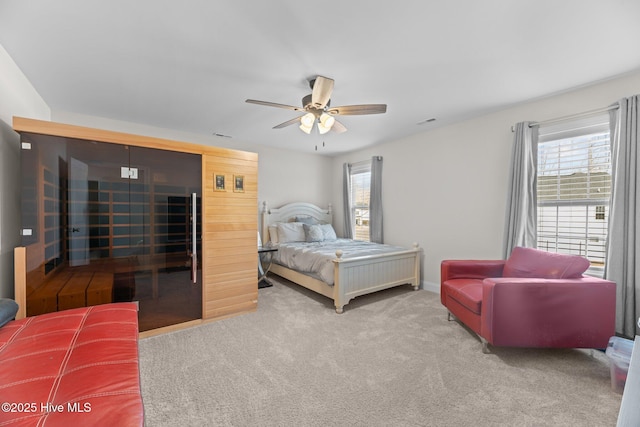
<svg viewBox="0 0 640 427"><path fill-rule="evenodd" d="M514 133L503 244L505 259L516 246L536 247L538 220L538 126L521 122L516 124Z"/></svg>

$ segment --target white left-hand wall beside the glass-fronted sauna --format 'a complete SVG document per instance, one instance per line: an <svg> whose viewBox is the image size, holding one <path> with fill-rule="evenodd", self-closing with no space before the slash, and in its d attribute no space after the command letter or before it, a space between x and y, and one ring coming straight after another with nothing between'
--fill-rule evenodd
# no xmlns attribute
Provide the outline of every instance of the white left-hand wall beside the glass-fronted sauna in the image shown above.
<svg viewBox="0 0 640 427"><path fill-rule="evenodd" d="M0 45L0 298L13 298L13 248L20 245L20 139L13 116L49 120L51 111Z"/></svg>

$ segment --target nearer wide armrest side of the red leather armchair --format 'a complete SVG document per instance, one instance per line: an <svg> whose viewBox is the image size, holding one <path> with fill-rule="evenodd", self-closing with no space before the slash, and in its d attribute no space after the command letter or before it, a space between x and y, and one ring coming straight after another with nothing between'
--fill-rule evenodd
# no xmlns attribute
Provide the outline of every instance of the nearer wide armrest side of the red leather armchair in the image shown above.
<svg viewBox="0 0 640 427"><path fill-rule="evenodd" d="M615 334L614 282L489 278L482 287L481 335L491 344L606 348Z"/></svg>

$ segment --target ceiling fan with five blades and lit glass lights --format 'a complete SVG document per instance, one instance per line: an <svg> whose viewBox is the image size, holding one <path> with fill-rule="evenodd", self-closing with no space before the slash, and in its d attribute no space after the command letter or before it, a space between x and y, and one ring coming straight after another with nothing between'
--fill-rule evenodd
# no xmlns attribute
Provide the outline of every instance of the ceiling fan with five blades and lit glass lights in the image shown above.
<svg viewBox="0 0 640 427"><path fill-rule="evenodd" d="M317 76L309 81L311 93L302 98L302 107L277 104L275 102L247 99L250 104L266 105L268 107L285 108L287 110L304 112L301 116L287 120L274 126L274 129L282 129L292 124L300 123L300 129L310 134L313 125L317 123L318 132L325 134L330 130L336 133L346 132L347 128L335 119L335 116L355 116L362 114L381 114L387 111L386 104L363 104L331 107L331 92L333 92L333 79Z"/></svg>

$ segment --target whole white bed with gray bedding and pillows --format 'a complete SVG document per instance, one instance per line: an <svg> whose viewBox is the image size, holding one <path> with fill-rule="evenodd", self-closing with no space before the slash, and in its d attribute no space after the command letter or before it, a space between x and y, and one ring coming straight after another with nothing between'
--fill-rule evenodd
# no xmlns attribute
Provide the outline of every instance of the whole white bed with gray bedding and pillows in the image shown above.
<svg viewBox="0 0 640 427"><path fill-rule="evenodd" d="M331 206L323 209L310 203L296 202L279 208L269 208L267 202L264 202L261 213L262 240L278 247L270 272L331 298L339 314L343 313L344 306L357 296L406 284L413 286L416 290L420 286L421 249L417 243L414 243L410 249L375 243L361 245L362 242L353 242L353 244L364 246L363 250L349 246L349 241L337 238L335 231L331 235L333 230ZM276 237L282 235L283 229L287 232L291 229L292 234L299 233L300 227L294 227L292 223L302 224L305 231L309 231L306 238L290 238L281 241L282 239ZM316 225L318 227L315 227ZM323 230L324 238L330 240L330 243L323 244L325 239L320 236L317 239L313 238L313 231L317 231L318 228ZM327 230L329 230L328 235ZM311 239L309 239L310 236ZM300 239L305 240L305 243L300 242ZM309 240L312 241L309 242ZM306 256L317 247L324 252L325 260L311 263L322 264L321 269L324 269L322 272L300 268L299 265L291 265L283 259L285 252L298 250L299 252L294 255L294 259L298 262L303 255ZM326 258L329 248L333 254L330 258ZM330 264L329 267L327 263ZM306 266L308 263L298 262L298 264ZM329 273L327 268L331 268Z"/></svg>

